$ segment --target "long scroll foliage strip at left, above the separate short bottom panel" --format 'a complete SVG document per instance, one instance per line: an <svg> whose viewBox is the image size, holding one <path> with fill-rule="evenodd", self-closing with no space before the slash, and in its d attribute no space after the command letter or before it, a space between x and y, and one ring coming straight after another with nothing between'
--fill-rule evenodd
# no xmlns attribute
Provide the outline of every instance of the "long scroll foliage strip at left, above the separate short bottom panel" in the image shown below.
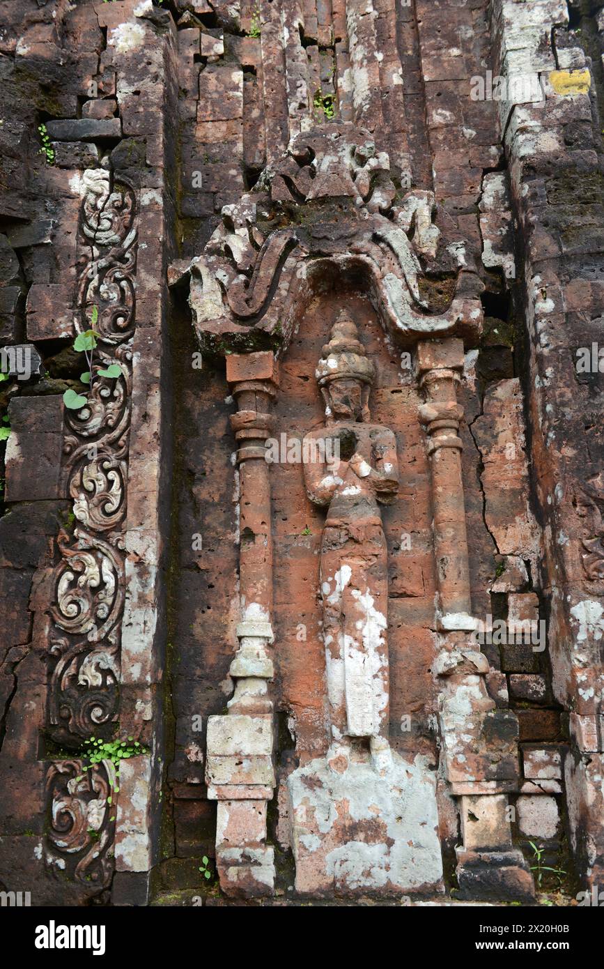
<svg viewBox="0 0 604 969"><path fill-rule="evenodd" d="M53 738L73 748L110 731L117 717L136 305L135 192L105 169L84 172L83 183L78 329L91 327L96 306L95 358L119 364L121 376L95 376L86 405L65 414L63 471L76 528L58 540L48 718Z"/></svg>

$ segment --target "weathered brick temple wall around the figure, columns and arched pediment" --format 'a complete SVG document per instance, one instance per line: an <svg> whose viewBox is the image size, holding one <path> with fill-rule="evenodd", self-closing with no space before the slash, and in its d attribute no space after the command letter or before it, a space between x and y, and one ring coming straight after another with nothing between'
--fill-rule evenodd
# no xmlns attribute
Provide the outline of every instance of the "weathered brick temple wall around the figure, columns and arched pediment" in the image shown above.
<svg viewBox="0 0 604 969"><path fill-rule="evenodd" d="M485 695L518 731L509 848L532 863L529 841L543 844L565 873L547 887L566 898L598 884L602 386L597 364L577 367L602 312L595 15L556 0L0 4L0 328L2 345L35 363L28 379L0 383L11 428L0 442L2 887L35 881L38 904L227 903L206 785L207 720L227 714L233 692L246 541L226 359L274 352L274 434L301 439L323 420L315 368L347 309L376 367L372 420L394 431L401 466L398 500L382 513L390 744L434 776L434 893L459 891L468 813L443 756L446 636L415 347L387 332L354 272L326 271L290 331L249 344L199 342L189 299L225 206L260 191L297 136L343 124L388 155L386 211L409 191L434 193L438 250L422 255L420 277L430 311L449 305L460 271L480 302L457 384L471 611L543 633L537 648L482 645ZM518 72L537 78L538 99L534 88L489 97L494 78ZM477 78L484 97L471 95ZM279 190L275 176L273 201L293 191L292 172ZM93 305L103 360L122 375L97 384L82 420L63 395L82 389L72 348ZM326 755L329 715L324 514L299 462L271 464L269 481L275 790L263 838L279 900L298 897L287 780ZM145 753L121 768L111 797L105 768L96 788L75 778L84 741L116 732ZM57 817L66 800L76 821Z"/></svg>

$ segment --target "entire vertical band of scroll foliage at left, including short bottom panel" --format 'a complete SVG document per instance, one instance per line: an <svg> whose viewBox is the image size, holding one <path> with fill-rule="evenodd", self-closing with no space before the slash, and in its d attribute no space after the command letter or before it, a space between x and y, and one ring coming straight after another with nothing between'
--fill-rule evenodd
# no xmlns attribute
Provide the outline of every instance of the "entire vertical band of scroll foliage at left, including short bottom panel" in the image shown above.
<svg viewBox="0 0 604 969"><path fill-rule="evenodd" d="M47 708L48 735L75 752L91 736L111 737L119 714L137 249L132 186L114 182L105 168L89 169L82 193L76 333L94 330L97 365L85 403L65 411L63 476L74 528L58 537ZM98 364L116 375L99 374ZM115 768L110 761L83 766L75 755L48 767L46 862L107 886Z"/></svg>

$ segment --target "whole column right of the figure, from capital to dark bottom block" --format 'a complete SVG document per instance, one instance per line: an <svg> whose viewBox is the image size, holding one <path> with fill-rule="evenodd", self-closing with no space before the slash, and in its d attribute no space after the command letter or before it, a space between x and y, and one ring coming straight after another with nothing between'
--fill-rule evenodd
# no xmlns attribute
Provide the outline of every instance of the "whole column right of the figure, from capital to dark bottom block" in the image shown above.
<svg viewBox="0 0 604 969"><path fill-rule="evenodd" d="M522 853L512 848L507 792L518 790L518 718L497 709L485 675L489 662L468 635L471 615L462 440L463 409L456 386L464 343L448 337L417 344L417 373L426 403L419 409L428 433L437 559L438 628L435 665L438 724L445 776L459 797L463 845L457 849L462 897L533 897Z"/></svg>

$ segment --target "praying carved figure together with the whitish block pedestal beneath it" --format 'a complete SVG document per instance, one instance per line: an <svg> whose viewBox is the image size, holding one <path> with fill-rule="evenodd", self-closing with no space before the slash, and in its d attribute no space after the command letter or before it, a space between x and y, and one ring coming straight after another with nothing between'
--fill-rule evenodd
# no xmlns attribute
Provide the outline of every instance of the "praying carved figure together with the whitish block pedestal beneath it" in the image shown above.
<svg viewBox="0 0 604 969"><path fill-rule="evenodd" d="M287 780L296 889L309 894L442 888L434 773L419 754L400 757L388 734L379 505L396 500L399 477L394 433L370 421L374 376L343 311L317 367L325 425L303 444L309 498L327 509L319 588L330 710L326 756Z"/></svg>

